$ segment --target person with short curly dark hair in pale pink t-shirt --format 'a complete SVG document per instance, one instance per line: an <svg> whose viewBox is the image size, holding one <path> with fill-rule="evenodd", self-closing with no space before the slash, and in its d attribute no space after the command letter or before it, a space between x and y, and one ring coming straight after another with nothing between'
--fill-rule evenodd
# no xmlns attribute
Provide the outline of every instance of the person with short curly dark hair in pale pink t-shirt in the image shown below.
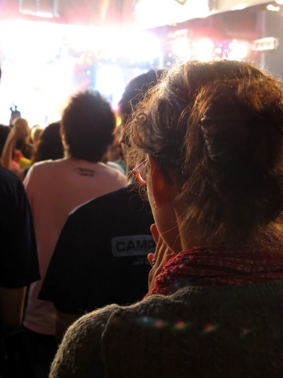
<svg viewBox="0 0 283 378"><path fill-rule="evenodd" d="M41 280L31 285L24 325L39 376L48 374L57 341L55 308L37 295L64 222L77 206L126 185L123 174L100 163L114 129L110 104L98 92L74 96L61 121L66 158L34 164L24 181L41 274Z"/></svg>

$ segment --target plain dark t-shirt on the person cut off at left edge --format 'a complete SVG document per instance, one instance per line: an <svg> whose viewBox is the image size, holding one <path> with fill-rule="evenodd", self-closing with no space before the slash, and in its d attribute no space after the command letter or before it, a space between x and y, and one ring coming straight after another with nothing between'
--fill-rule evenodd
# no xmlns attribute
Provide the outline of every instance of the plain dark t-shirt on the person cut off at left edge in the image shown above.
<svg viewBox="0 0 283 378"><path fill-rule="evenodd" d="M19 288L40 279L29 201L18 177L0 167L0 287Z"/></svg>

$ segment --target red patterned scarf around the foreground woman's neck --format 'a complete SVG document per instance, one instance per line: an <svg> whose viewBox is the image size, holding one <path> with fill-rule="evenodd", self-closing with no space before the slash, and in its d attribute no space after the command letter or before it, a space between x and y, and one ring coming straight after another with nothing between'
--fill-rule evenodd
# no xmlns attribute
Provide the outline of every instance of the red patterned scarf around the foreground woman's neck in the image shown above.
<svg viewBox="0 0 283 378"><path fill-rule="evenodd" d="M268 252L250 252L246 246L195 247L164 265L146 297L169 295L187 285L246 285L282 279L283 253L281 257Z"/></svg>

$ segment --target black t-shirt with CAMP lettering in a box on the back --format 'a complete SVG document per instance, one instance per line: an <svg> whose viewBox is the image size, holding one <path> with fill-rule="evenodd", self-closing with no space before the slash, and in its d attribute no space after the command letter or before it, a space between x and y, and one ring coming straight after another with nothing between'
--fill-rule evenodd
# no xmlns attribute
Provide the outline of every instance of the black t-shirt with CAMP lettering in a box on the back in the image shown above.
<svg viewBox="0 0 283 378"><path fill-rule="evenodd" d="M148 291L148 253L155 243L148 203L132 186L72 212L58 239L38 298L67 314L109 303L126 305Z"/></svg>

